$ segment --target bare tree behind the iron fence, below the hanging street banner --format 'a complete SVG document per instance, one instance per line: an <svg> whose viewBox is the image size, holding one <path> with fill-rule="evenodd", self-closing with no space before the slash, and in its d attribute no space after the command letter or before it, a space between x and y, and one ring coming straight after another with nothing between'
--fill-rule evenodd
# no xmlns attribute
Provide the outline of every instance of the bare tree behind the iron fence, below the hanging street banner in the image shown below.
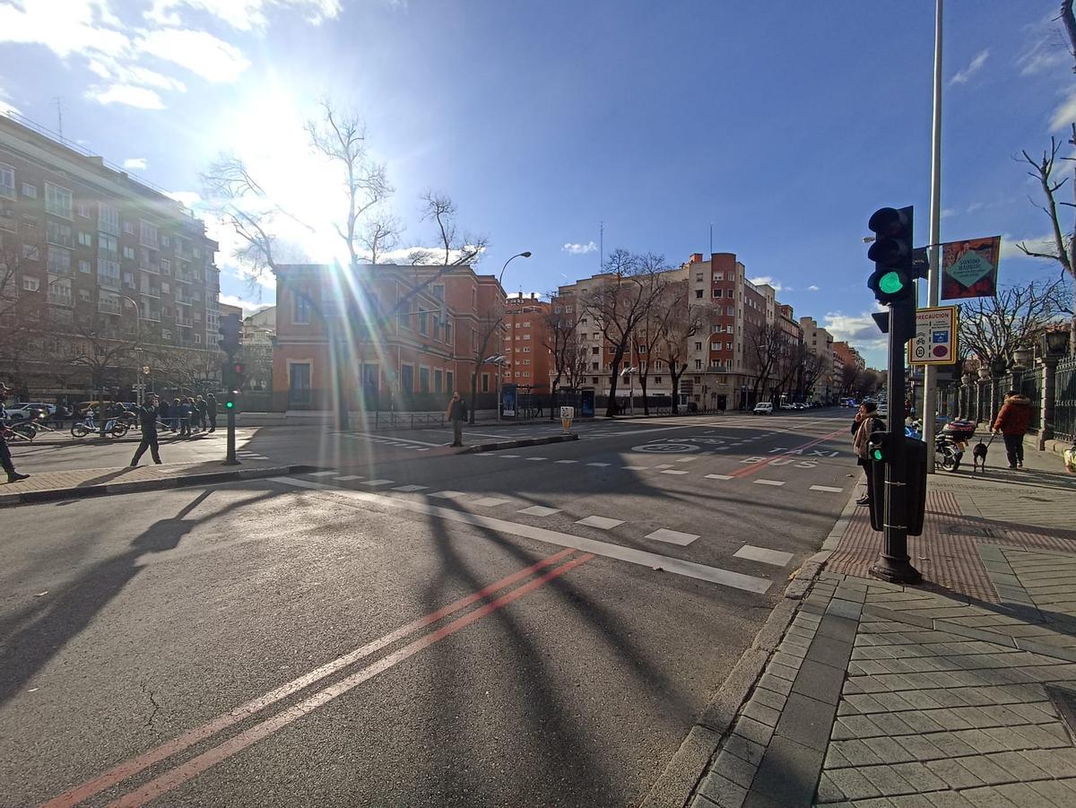
<svg viewBox="0 0 1076 808"><path fill-rule="evenodd" d="M960 306L960 342L986 366L1013 366L1013 353L1032 348L1038 334L1067 311L1065 279L1002 287L993 297Z"/></svg>

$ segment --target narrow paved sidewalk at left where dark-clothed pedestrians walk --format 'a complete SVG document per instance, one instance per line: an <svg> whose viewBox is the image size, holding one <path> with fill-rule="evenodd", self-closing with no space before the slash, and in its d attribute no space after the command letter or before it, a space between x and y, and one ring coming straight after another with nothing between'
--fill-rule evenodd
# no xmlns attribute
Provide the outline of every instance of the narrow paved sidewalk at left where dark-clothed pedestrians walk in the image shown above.
<svg viewBox="0 0 1076 808"><path fill-rule="evenodd" d="M281 466L253 460L243 460L240 466L225 466L220 460L156 465L143 458L142 465L137 467L46 471L33 473L27 480L0 484L0 508L185 485L210 485L311 470L314 470L313 466Z"/></svg>

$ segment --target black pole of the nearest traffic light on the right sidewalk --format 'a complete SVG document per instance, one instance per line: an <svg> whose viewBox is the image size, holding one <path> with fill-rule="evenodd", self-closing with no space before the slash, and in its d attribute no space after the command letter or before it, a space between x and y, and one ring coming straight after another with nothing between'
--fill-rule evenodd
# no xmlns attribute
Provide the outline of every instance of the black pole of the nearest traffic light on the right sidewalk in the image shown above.
<svg viewBox="0 0 1076 808"><path fill-rule="evenodd" d="M875 492L886 501L886 534L882 551L870 567L870 575L890 583L919 583L922 576L908 557L907 464L904 440L904 352L911 337L908 325L915 320L915 297L897 300L889 307L889 435L891 457L886 466L886 491Z"/></svg>

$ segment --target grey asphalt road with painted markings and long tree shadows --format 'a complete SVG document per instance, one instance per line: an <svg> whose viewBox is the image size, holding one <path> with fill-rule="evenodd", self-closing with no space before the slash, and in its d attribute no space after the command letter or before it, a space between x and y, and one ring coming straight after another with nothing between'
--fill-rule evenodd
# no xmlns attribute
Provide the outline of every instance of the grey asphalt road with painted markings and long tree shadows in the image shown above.
<svg viewBox="0 0 1076 808"><path fill-rule="evenodd" d="M269 428L324 470L5 511L0 804L637 804L847 501L847 423Z"/></svg>

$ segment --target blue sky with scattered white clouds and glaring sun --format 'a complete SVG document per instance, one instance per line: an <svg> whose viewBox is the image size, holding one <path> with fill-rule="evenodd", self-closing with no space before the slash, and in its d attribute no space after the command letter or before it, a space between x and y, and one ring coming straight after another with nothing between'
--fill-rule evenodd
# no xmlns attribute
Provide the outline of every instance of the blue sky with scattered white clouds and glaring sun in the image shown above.
<svg viewBox="0 0 1076 808"><path fill-rule="evenodd" d="M946 8L942 239L1002 235L1003 284L1058 274L1016 250L1049 232L1020 152L1076 121L1057 8ZM712 228L882 366L863 237L914 204L928 241L933 53L931 0L0 0L0 109L52 129L61 112L66 139L195 212L201 172L241 157L301 223L281 238L320 259L343 197L302 124L329 99L365 119L404 247L435 241L426 192L489 240L478 271L533 253L509 292L589 277L601 247L676 266ZM222 299L272 302L209 225Z"/></svg>

